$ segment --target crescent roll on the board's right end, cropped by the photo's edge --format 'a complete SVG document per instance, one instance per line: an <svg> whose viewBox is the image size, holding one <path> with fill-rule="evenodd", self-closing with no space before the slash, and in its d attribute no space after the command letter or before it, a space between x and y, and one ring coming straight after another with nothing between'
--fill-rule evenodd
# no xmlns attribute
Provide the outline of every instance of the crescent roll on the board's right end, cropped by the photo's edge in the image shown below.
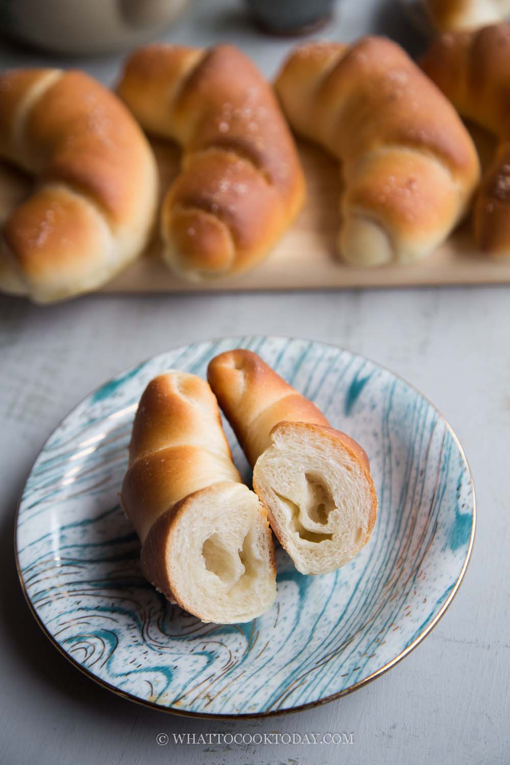
<svg viewBox="0 0 510 765"><path fill-rule="evenodd" d="M456 109L499 138L473 213L480 249L510 257L510 24L443 34L422 66Z"/></svg>

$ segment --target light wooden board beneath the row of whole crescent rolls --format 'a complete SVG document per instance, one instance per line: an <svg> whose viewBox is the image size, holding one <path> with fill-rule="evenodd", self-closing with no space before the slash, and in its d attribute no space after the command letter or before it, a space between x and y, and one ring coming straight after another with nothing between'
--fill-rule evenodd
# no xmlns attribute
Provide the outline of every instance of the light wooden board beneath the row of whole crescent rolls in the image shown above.
<svg viewBox="0 0 510 765"><path fill-rule="evenodd" d="M178 172L180 154L170 143L154 141L153 145L164 190ZM338 164L310 144L300 143L299 150L307 177L307 203L294 226L255 268L238 276L187 282L173 275L161 261L161 239L156 233L141 258L102 291L197 292L510 282L510 261L496 262L477 252L469 220L437 252L417 264L360 269L343 263L336 256L341 190ZM5 172L4 168L2 175ZM15 184L8 184L8 193L5 188L0 177L0 223L7 209L26 193L26 181L17 178Z"/></svg>

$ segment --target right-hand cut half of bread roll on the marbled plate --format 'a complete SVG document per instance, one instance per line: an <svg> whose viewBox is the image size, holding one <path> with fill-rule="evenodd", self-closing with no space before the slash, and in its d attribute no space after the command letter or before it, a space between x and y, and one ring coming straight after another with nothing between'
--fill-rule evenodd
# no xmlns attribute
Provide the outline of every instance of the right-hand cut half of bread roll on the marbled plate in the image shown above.
<svg viewBox="0 0 510 765"><path fill-rule="evenodd" d="M377 513L365 451L252 351L221 353L207 378L297 570L326 574L352 560Z"/></svg>

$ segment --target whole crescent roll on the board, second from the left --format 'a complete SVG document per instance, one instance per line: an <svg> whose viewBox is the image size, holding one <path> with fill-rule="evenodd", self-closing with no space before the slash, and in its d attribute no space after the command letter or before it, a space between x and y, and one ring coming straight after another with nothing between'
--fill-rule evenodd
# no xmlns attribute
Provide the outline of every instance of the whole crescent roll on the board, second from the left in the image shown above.
<svg viewBox="0 0 510 765"><path fill-rule="evenodd" d="M164 260L200 280L266 255L304 201L304 176L271 86L241 50L151 45L118 93L149 132L184 148L161 210Z"/></svg>

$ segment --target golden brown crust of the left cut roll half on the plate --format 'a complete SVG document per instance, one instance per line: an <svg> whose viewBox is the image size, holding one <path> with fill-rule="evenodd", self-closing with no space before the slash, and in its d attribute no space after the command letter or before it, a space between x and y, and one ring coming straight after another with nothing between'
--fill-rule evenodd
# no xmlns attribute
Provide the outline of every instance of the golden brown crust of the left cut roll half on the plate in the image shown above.
<svg viewBox="0 0 510 765"><path fill-rule="evenodd" d="M185 496L222 480L241 479L210 387L185 373L151 380L135 416L121 493L141 542Z"/></svg>

